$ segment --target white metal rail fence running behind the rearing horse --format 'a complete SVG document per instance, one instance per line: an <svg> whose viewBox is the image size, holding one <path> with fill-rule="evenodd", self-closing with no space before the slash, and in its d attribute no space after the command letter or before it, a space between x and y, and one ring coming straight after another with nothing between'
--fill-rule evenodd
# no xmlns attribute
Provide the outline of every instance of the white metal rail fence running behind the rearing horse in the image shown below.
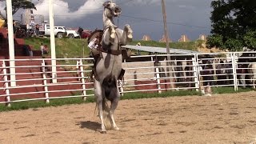
<svg viewBox="0 0 256 144"><path fill-rule="evenodd" d="M243 55L242 55L243 53ZM248 64L256 62L255 52L164 54L135 56L123 62L121 94L162 93L166 90L200 90L205 86L252 86ZM238 57L239 56L239 57ZM238 61L239 58L239 61ZM53 74L51 61L57 61ZM91 58L15 59L16 86L10 86L8 59L0 61L0 104L11 102L74 98L94 95L90 78ZM247 66L247 67L246 67Z"/></svg>

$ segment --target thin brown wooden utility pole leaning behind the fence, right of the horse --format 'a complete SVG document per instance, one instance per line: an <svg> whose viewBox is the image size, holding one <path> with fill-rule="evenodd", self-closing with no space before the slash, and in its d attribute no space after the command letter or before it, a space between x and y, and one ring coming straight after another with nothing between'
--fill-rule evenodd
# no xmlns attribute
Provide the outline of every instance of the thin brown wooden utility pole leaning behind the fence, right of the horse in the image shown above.
<svg viewBox="0 0 256 144"><path fill-rule="evenodd" d="M166 3L165 0L162 0L162 17L163 17L163 25L165 30L165 37L166 37L166 54L167 54L167 62L166 62L166 71L167 76L170 77L170 82L172 80L172 74L170 73L170 47L169 47L169 36L168 36L168 29L166 24ZM174 88L174 83L170 83L170 88Z"/></svg>

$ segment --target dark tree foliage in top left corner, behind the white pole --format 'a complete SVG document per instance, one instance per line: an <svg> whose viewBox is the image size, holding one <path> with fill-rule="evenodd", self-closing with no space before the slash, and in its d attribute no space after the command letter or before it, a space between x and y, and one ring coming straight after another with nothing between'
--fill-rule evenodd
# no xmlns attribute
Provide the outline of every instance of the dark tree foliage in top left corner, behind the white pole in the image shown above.
<svg viewBox="0 0 256 144"><path fill-rule="evenodd" d="M4 2L6 0L0 0L0 2ZM34 6L33 2L27 0L12 0L12 12L15 14L20 9L34 9L37 10ZM5 8L6 10L6 8ZM7 18L7 17L6 17Z"/></svg>

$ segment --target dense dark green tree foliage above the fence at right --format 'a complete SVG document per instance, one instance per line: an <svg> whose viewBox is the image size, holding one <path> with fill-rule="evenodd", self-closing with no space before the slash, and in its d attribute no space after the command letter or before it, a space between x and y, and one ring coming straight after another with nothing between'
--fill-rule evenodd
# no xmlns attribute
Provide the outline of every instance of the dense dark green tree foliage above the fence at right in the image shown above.
<svg viewBox="0 0 256 144"><path fill-rule="evenodd" d="M211 2L211 36L207 46L241 50L243 46L256 50L256 1L215 0Z"/></svg>

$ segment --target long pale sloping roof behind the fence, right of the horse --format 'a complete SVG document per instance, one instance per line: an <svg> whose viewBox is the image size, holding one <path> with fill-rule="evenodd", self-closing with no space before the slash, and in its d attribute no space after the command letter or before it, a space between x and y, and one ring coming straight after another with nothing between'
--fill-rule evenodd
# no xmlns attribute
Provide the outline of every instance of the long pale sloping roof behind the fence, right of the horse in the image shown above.
<svg viewBox="0 0 256 144"><path fill-rule="evenodd" d="M132 45L126 45L126 46L122 46L122 47L126 48L126 49L142 50L142 51L147 51L147 52L151 52L151 53L166 54L166 48L164 48L164 47L132 46ZM199 52L199 51L170 48L170 54L200 54L200 53L201 52Z"/></svg>

